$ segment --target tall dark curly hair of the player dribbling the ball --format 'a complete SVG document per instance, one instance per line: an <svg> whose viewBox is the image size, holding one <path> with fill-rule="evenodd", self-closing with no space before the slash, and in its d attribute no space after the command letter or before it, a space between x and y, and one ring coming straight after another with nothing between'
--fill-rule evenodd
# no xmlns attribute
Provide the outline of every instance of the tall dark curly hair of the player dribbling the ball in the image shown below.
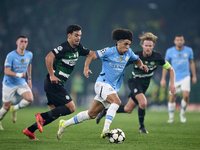
<svg viewBox="0 0 200 150"><path fill-rule="evenodd" d="M112 39L117 41L122 39L133 41L133 32L128 29L118 28L112 31Z"/></svg>

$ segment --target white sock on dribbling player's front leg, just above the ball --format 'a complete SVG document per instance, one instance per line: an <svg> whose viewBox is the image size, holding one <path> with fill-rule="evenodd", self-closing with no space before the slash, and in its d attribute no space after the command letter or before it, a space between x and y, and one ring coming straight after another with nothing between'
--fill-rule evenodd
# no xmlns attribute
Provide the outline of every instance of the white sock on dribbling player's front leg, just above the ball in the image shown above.
<svg viewBox="0 0 200 150"><path fill-rule="evenodd" d="M109 131L110 124L113 121L118 108L119 108L119 105L116 103L112 103L110 105L110 107L108 108L108 111L106 113L106 119L105 119L103 131Z"/></svg>

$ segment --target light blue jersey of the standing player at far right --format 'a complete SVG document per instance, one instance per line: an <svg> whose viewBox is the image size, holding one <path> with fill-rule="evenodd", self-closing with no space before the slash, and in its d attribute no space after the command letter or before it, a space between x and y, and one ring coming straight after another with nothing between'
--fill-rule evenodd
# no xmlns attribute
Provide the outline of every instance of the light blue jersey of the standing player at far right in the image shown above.
<svg viewBox="0 0 200 150"><path fill-rule="evenodd" d="M170 61L174 68L176 82L190 75L190 60L194 59L192 48L184 46L181 51L175 46L168 48L165 59Z"/></svg>

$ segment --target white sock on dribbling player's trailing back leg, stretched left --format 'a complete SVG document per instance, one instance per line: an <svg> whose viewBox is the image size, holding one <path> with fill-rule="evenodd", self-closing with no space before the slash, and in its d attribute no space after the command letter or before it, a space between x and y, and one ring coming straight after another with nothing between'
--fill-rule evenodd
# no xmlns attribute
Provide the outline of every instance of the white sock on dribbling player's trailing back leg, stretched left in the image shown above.
<svg viewBox="0 0 200 150"><path fill-rule="evenodd" d="M86 110L86 111L82 111L82 112L78 113L76 116L72 117L71 119L66 120L64 125L66 127L69 127L70 125L81 123L81 122L83 122L85 120L89 120L89 119L90 119L90 116L88 115L88 110Z"/></svg>

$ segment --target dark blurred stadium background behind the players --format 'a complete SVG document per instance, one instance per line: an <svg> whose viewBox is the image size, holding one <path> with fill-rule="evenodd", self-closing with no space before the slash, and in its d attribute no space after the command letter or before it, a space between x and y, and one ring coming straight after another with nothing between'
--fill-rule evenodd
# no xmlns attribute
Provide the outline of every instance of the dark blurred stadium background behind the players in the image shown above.
<svg viewBox="0 0 200 150"><path fill-rule="evenodd" d="M5 57L16 49L15 41L19 35L28 37L27 49L34 54L32 77L35 101L31 106L45 106L45 56L66 40L66 28L70 24L81 25L81 44L91 50L115 45L115 41L111 40L111 31L128 28L134 33L133 51L142 50L138 35L142 31L150 31L159 37L155 50L164 56L166 49L174 45L174 36L183 34L186 45L193 48L198 78L197 84L192 85L190 103L193 105L188 109L200 110L197 107L200 104L199 8L199 0L0 0L0 79L3 80ZM101 71L101 61L96 60L90 67L93 74L89 79L84 78L84 61L84 57L79 59L65 86L79 107L90 106L94 98L94 82ZM131 69L131 66L127 67L119 92L124 104L128 99L127 80ZM146 94L148 106L156 109L166 108L168 102L167 90L159 86L161 70L160 67L155 72ZM13 103L20 99L16 95Z"/></svg>

